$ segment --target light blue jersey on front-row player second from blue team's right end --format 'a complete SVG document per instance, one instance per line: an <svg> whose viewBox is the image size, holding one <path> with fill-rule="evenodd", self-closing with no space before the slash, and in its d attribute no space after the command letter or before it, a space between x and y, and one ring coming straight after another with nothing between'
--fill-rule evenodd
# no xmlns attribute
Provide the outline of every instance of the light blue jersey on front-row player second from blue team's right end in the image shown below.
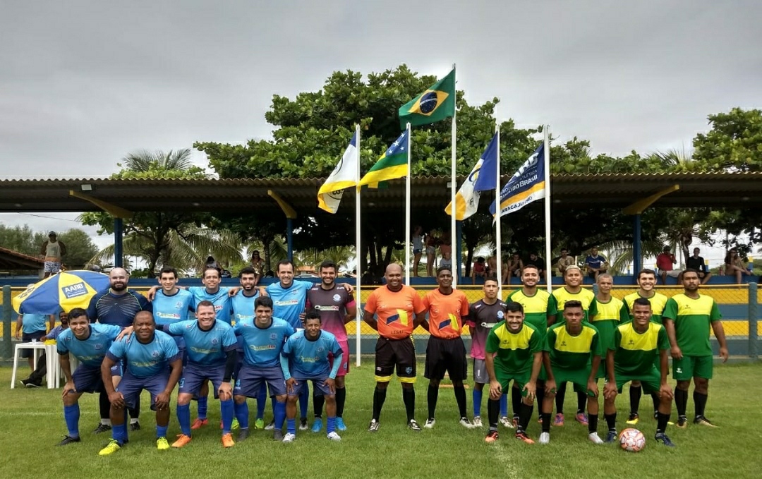
<svg viewBox="0 0 762 479"><path fill-rule="evenodd" d="M267 368L280 366L283 343L294 330L280 318L273 318L270 327L264 329L258 327L254 319L242 319L235 323L235 334L243 337L245 364Z"/></svg>

